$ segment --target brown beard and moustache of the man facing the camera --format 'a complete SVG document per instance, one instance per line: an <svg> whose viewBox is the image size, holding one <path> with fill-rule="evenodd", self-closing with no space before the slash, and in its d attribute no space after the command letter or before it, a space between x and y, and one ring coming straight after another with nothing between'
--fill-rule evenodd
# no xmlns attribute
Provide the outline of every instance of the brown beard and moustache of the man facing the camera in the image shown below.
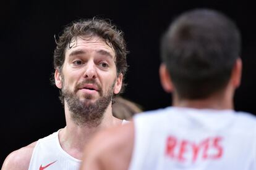
<svg viewBox="0 0 256 170"><path fill-rule="evenodd" d="M93 83L98 86L100 98L95 102L92 102L92 95L90 94L84 95L83 99L80 100L75 94L78 90L72 92L63 86L64 83L62 83L63 88L61 89L61 95L64 97L64 100L66 100L70 116L75 124L79 126L96 127L101 123L106 108L113 99L115 81L112 86L109 87L105 95L103 95L100 85L97 84L95 80L85 80L82 83L79 83L75 89L79 89L80 86L86 83Z"/></svg>

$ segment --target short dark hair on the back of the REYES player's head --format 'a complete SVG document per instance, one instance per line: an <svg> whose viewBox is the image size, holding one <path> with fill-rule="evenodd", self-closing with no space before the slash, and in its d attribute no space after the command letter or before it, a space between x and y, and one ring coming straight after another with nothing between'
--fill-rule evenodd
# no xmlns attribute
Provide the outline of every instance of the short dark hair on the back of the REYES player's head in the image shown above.
<svg viewBox="0 0 256 170"><path fill-rule="evenodd" d="M210 9L182 14L161 41L162 60L181 99L203 99L223 89L240 51L237 26Z"/></svg>

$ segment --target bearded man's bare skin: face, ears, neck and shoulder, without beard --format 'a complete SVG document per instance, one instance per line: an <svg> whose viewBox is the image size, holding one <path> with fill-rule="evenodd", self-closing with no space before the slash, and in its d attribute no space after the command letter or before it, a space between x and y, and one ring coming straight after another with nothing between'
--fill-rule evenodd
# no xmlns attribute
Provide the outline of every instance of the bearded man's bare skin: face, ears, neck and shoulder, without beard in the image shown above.
<svg viewBox="0 0 256 170"><path fill-rule="evenodd" d="M66 49L62 70L55 71L56 86L61 89L64 84L70 91L75 92L81 101L90 94L92 98L89 102L92 103L100 98L100 94L98 91L77 89L76 85L84 79L95 79L100 85L103 95L114 84L113 93L118 94L122 86L122 74L117 76L114 49L96 36L87 40L78 37L72 43L70 44L72 48ZM62 82L62 77L64 77L64 82ZM66 127L59 132L59 142L65 152L78 160L82 160L84 146L95 135L95 132L122 123L121 119L114 118L112 115L111 103L106 108L100 125L96 127L80 126L74 123L70 118L66 102L64 110ZM33 142L10 153L2 165L2 170L27 170L35 145L36 142Z"/></svg>

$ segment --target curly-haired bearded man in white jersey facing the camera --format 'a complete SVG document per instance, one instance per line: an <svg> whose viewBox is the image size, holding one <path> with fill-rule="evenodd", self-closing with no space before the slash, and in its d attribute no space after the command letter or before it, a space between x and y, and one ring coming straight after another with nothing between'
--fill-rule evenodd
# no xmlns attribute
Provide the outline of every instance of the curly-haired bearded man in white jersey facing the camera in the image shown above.
<svg viewBox="0 0 256 170"><path fill-rule="evenodd" d="M126 42L114 25L93 18L67 26L56 41L54 83L66 127L7 156L2 169L79 169L83 147L100 129L122 124L112 115L127 70Z"/></svg>

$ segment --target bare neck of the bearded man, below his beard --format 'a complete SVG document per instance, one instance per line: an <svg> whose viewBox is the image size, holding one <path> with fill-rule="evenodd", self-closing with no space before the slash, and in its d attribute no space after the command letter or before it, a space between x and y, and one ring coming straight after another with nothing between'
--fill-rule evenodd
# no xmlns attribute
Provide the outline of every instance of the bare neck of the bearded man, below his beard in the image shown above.
<svg viewBox="0 0 256 170"><path fill-rule="evenodd" d="M74 123L70 117L69 109L66 105L64 108L67 125L59 132L59 143L64 151L78 160L82 160L83 148L96 132L122 123L121 119L112 115L111 103L106 108L101 123L95 127L79 126Z"/></svg>

